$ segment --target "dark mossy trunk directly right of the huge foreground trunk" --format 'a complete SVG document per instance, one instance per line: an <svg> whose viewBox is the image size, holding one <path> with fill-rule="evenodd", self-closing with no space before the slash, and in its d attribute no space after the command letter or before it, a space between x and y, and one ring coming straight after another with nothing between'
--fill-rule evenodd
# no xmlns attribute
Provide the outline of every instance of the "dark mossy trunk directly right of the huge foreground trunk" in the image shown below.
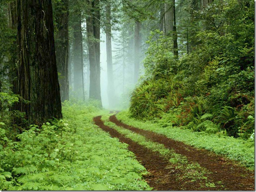
<svg viewBox="0 0 256 192"><path fill-rule="evenodd" d="M68 0L61 0L56 5L56 28L55 48L56 63L58 68L60 97L62 102L69 100L69 81L68 81Z"/></svg>

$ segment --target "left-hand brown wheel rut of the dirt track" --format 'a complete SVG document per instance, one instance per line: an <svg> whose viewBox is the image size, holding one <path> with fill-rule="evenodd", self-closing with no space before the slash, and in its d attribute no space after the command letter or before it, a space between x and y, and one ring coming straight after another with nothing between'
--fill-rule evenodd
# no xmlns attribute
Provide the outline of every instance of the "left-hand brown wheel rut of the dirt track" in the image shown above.
<svg viewBox="0 0 256 192"><path fill-rule="evenodd" d="M93 118L95 125L99 126L103 131L109 132L111 137L118 138L120 142L128 144L128 150L133 152L138 161L150 172L144 176L149 186L154 190L209 190L210 188L202 188L200 183L186 182L186 180L176 180L174 168L170 167L167 159L164 159L157 152L152 152L144 146L137 144L129 138L126 138L116 130L104 125L101 116ZM201 187L201 188L200 188Z"/></svg>

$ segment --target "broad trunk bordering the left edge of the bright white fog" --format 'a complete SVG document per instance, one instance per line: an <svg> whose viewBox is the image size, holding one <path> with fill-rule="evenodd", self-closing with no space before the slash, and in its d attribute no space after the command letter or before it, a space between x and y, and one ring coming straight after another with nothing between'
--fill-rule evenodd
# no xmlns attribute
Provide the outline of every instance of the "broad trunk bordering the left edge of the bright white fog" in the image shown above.
<svg viewBox="0 0 256 192"><path fill-rule="evenodd" d="M99 0L87 0L89 5L86 18L90 62L89 98L101 104L101 66L100 66L100 10Z"/></svg>

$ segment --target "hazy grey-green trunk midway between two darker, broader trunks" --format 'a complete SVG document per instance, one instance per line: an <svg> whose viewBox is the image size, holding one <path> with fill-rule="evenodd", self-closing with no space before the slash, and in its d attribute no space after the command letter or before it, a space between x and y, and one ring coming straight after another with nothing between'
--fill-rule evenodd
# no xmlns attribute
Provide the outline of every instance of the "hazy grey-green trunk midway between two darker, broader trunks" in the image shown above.
<svg viewBox="0 0 256 192"><path fill-rule="evenodd" d="M83 86L83 43L82 43L82 28L81 28L81 12L77 16L77 21L74 22L74 44L73 44L73 63L74 63L74 92L78 98L85 100Z"/></svg>

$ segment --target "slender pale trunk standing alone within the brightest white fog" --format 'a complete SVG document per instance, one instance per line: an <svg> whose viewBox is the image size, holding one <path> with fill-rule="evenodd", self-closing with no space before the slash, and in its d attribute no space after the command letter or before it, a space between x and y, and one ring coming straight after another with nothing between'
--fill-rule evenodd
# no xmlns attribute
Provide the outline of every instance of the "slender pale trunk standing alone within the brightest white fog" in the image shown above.
<svg viewBox="0 0 256 192"><path fill-rule="evenodd" d="M111 45L111 2L107 2L106 6L106 46L107 46L107 76L108 76L108 99L109 106L114 106L114 79L113 79L113 64L112 64L112 45Z"/></svg>

